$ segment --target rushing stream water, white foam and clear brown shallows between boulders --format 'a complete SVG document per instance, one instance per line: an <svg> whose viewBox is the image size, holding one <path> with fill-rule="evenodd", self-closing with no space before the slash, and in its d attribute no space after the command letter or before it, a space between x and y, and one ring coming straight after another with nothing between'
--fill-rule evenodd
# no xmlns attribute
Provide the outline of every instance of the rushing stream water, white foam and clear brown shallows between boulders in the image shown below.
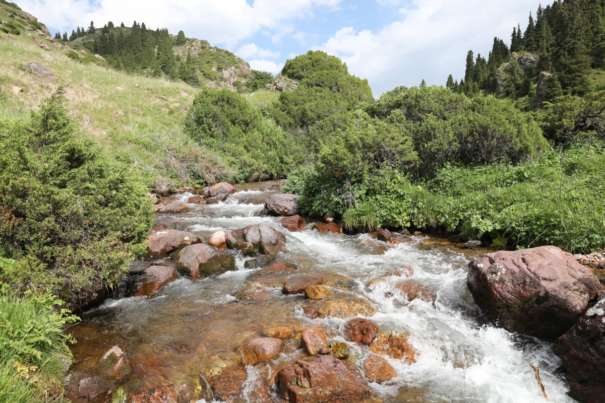
<svg viewBox="0 0 605 403"><path fill-rule="evenodd" d="M278 219L254 215L262 205L252 203L270 193L242 190L224 203L191 205L189 213L159 214L156 221L202 237L265 222L286 235L287 253L280 254L278 260L298 266L296 274L324 277L341 286L344 294L372 301L378 313L371 320L381 330L410 334L419 352L417 362L411 365L388 359L398 376L389 384L370 383L377 401L543 402L545 398L529 365L534 363L540 369L549 401L573 402L557 373L560 361L550 343L486 323L475 305L466 288L466 272L469 259L482 251L459 250L449 242L424 236L391 246L367 234L347 236L312 230L289 233ZM178 197L186 200L188 196ZM301 308L304 296L283 295L277 284L261 282L262 298L238 300L238 291L258 269L244 269L241 256L236 263L236 271L204 280L180 278L151 298L107 300L83 314L82 322L73 327L78 343L73 347L77 364L72 369L93 366L117 344L128 355L133 369L125 388L136 392L162 382L199 384L197 374L207 374L212 366L233 361L237 347L250 337L258 337L264 326L321 326L333 340L345 341L342 335L347 320L309 319ZM174 262L167 258L162 264ZM434 304L421 299L408 302L394 288L401 281L399 277L387 277L368 288L371 280L404 265L414 268L410 279L436 294ZM359 355L358 363L362 362L368 355L367 347L353 348ZM287 350L280 359L287 361L299 354L300 350ZM260 368L271 375L277 365ZM241 396L244 401L254 402L253 382L260 370L247 367L247 373L249 379Z"/></svg>

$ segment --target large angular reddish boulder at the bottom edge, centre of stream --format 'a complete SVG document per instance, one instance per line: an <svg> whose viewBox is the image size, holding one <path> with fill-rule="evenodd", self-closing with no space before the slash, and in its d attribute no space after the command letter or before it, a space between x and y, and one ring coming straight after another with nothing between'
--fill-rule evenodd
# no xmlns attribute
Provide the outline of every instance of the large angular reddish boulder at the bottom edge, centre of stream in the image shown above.
<svg viewBox="0 0 605 403"><path fill-rule="evenodd" d="M357 402L371 395L363 379L330 355L286 367L277 381L281 398L289 403Z"/></svg>

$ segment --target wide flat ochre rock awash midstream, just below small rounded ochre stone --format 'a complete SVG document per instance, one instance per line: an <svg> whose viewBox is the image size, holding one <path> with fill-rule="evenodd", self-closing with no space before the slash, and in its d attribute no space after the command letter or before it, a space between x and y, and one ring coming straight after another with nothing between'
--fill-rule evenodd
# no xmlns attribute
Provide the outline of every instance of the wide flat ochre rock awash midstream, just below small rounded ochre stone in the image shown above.
<svg viewBox="0 0 605 403"><path fill-rule="evenodd" d="M365 298L348 296L308 300L302 309L311 319L348 319L355 318L357 315L373 316L378 312L374 305Z"/></svg>

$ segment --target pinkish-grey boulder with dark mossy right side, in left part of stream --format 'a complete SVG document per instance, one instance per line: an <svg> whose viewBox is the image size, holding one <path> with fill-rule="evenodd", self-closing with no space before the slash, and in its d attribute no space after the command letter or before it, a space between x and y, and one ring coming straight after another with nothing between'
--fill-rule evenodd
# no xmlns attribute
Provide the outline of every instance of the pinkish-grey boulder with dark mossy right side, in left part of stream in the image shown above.
<svg viewBox="0 0 605 403"><path fill-rule="evenodd" d="M214 276L235 270L234 257L221 250L198 243L183 248L178 253L178 272L192 278Z"/></svg>

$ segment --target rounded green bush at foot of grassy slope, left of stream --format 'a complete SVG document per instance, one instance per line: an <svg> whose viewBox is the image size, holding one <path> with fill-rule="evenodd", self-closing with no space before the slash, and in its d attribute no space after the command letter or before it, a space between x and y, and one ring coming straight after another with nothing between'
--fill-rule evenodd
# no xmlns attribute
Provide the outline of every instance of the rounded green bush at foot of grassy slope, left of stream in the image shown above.
<svg viewBox="0 0 605 403"><path fill-rule="evenodd" d="M267 123L260 111L228 89L204 88L189 109L186 133L220 151L248 181L283 178L304 160L292 135Z"/></svg>

